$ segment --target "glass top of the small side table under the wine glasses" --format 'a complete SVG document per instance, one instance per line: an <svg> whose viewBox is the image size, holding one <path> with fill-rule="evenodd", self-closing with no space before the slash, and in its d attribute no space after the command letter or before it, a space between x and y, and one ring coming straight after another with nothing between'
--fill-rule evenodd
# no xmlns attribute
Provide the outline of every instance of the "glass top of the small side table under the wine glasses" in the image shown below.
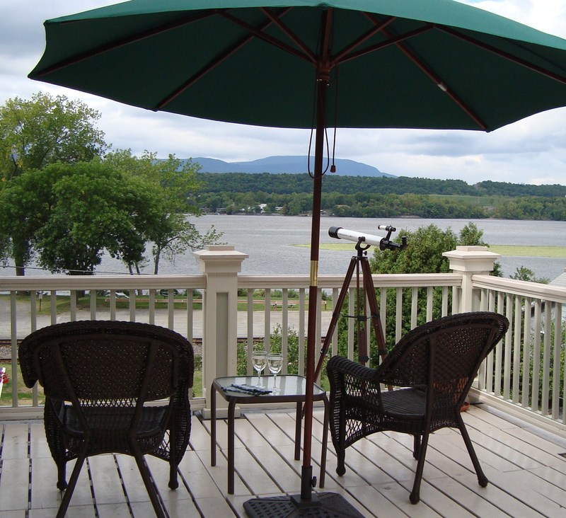
<svg viewBox="0 0 566 518"><path fill-rule="evenodd" d="M261 388L269 388L273 390L273 376L260 376L260 382L258 383L258 376L226 376L224 378L216 378L214 384L219 388L228 387L230 385L252 385ZM277 376L275 381L276 390L270 393L262 394L257 396L254 394L246 394L231 391L222 391L226 396L238 397L238 398L248 398L248 397L259 397L259 398L269 398L274 396L304 396L306 393L306 378L305 376L294 376L291 374L280 374ZM314 384L313 386L313 396L322 396L325 393L323 388Z"/></svg>

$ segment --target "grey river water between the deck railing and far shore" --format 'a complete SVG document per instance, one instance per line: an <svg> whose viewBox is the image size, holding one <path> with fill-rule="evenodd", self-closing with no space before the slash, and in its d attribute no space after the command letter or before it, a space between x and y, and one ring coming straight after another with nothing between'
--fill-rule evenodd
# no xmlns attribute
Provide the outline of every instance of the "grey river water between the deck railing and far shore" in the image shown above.
<svg viewBox="0 0 566 518"><path fill-rule="evenodd" d="M311 235L310 217L287 216L228 216L206 215L191 220L197 229L206 231L214 225L217 231L224 232L221 241L233 245L236 250L250 257L243 262L242 272L247 275L299 274L308 275L310 251L308 245ZM320 243L347 243L328 236L330 226L383 236L377 230L379 224L390 224L398 231L393 234L398 241L400 230L414 231L420 226L435 224L440 229L451 228L456 234L469 221L483 230L483 239L490 245L530 245L566 246L566 221L515 221L503 219L369 219L323 217L320 221ZM419 243L410 243L419 246ZM320 275L345 274L352 251L320 250ZM370 249L371 253L371 249ZM392 252L396 253L396 252ZM501 261L504 277L513 275L517 267L528 267L536 277L553 280L566 268L564 258L540 258L503 256ZM97 273L127 273L125 265L110 257L103 258ZM144 273L151 273L147 267ZM192 253L178 256L173 263L161 260L159 272L162 274L192 275L199 272ZM12 268L0 268L0 275L14 275ZM27 275L50 275L49 272L28 270Z"/></svg>

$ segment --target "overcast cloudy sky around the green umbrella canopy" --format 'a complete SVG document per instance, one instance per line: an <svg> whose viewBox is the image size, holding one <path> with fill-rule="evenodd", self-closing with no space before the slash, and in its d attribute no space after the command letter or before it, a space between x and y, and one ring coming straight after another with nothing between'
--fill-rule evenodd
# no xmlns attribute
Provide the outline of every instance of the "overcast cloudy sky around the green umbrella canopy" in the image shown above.
<svg viewBox="0 0 566 518"><path fill-rule="evenodd" d="M426 1L426 0L423 0ZM565 0L461 0L566 38ZM31 81L45 47L43 21L117 0L0 0L0 105L37 91L81 99L102 117L98 127L115 149L156 151L166 157L207 156L248 161L270 155L306 155L308 132L230 125L154 113L69 88ZM566 185L566 108L533 115L490 134L463 131L338 129L336 157L368 163L385 173Z"/></svg>

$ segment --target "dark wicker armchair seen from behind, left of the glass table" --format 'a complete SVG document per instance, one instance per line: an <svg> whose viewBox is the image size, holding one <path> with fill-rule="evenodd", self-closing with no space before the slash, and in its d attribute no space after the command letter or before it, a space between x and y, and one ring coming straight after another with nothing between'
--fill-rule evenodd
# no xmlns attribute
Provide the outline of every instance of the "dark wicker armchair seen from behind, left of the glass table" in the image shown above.
<svg viewBox="0 0 566 518"><path fill-rule="evenodd" d="M158 517L165 516L144 454L168 461L169 487L190 436L192 345L172 330L145 323L80 321L31 333L18 351L23 381L45 390L45 433L65 491L63 517L87 456L134 456ZM148 401L168 399L163 404ZM69 485L65 466L77 459Z"/></svg>

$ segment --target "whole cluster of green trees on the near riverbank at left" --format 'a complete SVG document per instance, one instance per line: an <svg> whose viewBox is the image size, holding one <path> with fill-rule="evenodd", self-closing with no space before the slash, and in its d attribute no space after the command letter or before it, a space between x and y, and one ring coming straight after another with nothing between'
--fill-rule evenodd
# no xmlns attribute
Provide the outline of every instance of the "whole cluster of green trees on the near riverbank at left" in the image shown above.
<svg viewBox="0 0 566 518"><path fill-rule="evenodd" d="M81 101L37 93L0 107L0 262L24 275L34 259L52 272L93 273L104 253L130 272L217 243L188 217L197 164L112 150L100 114Z"/></svg>

